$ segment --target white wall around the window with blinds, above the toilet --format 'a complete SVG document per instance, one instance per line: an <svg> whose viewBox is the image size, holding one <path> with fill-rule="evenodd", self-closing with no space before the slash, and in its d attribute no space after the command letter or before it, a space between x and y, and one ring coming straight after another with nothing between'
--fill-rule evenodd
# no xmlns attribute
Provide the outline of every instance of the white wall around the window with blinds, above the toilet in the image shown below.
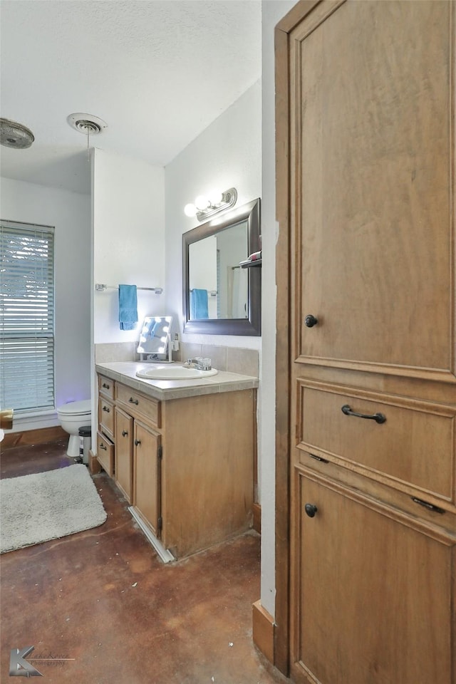
<svg viewBox="0 0 456 684"><path fill-rule="evenodd" d="M56 406L88 399L90 196L7 178L0 179L0 190L3 219L55 227ZM15 418L14 431L50 425L58 425L54 413Z"/></svg>

